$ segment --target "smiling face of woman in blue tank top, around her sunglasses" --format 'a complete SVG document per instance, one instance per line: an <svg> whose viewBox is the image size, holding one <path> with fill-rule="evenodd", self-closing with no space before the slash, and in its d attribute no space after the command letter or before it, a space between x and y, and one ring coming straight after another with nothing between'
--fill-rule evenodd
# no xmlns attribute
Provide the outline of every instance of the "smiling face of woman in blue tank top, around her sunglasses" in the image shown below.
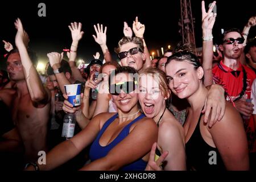
<svg viewBox="0 0 256 182"><path fill-rule="evenodd" d="M110 85L121 84L126 81L133 81L133 78L129 77L127 73L118 73L112 78ZM135 90L130 93L125 93L121 90L118 96L112 95L112 98L118 110L121 110L123 113L129 113L134 107L138 107L138 86L135 86ZM136 110L138 109L136 108Z"/></svg>

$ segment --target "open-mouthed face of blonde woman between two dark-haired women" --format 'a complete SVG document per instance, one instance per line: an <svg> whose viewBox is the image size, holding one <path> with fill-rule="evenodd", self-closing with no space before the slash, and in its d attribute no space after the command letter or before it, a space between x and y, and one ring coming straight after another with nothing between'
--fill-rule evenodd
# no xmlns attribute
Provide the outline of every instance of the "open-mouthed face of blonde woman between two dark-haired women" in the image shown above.
<svg viewBox="0 0 256 182"><path fill-rule="evenodd" d="M139 81L139 104L148 118L155 118L166 106L168 96L163 96L159 77L143 74Z"/></svg>

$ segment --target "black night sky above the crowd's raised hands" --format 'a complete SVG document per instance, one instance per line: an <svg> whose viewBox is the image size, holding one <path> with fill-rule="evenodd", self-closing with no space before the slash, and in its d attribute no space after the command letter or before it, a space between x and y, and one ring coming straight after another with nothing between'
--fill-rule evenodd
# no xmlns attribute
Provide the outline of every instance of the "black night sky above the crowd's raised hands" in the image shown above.
<svg viewBox="0 0 256 182"><path fill-rule="evenodd" d="M38 16L38 4L46 3L46 17ZM208 5L212 1L205 1ZM92 5L92 3L94 5ZM179 34L180 1L27 1L15 2L1 1L0 39L14 44L16 30L14 20L19 17L23 27L30 36L30 48L38 54L39 61L47 61L48 52L60 52L64 47L69 48L72 43L71 32L68 25L71 22L81 22L85 32L79 44L78 59L90 60L93 54L102 52L100 46L92 37L95 34L93 24L102 23L108 27L107 45L114 58L114 47L123 36L123 21L132 27L135 16L146 26L144 38L150 51L167 48L168 45L175 47L181 40ZM201 47L201 1L191 0L192 13L195 18L196 46ZM109 7L109 8L107 8ZM213 36L220 35L220 29L231 27L242 29L247 20L256 15L255 3L244 0L240 3L234 1L217 1L217 19L214 24ZM256 36L256 27L251 28L250 37ZM96 35L96 34L95 34ZM0 67L5 67L3 55L5 54L3 43L0 48Z"/></svg>

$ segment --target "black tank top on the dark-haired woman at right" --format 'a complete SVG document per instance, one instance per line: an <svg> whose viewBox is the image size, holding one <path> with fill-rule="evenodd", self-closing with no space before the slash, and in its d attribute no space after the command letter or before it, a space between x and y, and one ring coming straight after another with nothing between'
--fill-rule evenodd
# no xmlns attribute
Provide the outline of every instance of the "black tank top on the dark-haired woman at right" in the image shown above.
<svg viewBox="0 0 256 182"><path fill-rule="evenodd" d="M202 113L200 114L195 131L185 144L187 169L192 171L225 170L224 163L217 148L209 146L201 136L201 116Z"/></svg>

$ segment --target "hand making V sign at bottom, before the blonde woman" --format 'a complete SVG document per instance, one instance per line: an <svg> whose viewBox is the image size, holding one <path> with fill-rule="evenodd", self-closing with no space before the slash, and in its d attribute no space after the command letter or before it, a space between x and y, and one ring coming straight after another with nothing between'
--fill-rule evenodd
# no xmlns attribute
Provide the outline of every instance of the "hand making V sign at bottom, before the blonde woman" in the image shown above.
<svg viewBox="0 0 256 182"><path fill-rule="evenodd" d="M163 154L156 160L155 162L155 150L156 150L156 142L152 145L150 151L150 158L148 159L148 163L145 171L163 171L160 165L163 163L164 159L168 155L168 151L164 151Z"/></svg>

